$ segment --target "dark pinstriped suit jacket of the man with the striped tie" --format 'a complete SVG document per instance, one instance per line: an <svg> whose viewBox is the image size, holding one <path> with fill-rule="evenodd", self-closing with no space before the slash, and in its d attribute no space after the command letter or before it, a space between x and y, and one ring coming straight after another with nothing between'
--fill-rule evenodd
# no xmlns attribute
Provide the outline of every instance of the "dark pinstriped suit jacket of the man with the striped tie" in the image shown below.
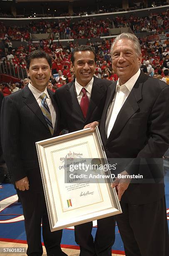
<svg viewBox="0 0 169 256"><path fill-rule="evenodd" d="M59 134L59 110L53 100L53 92L48 90L48 93L57 113L53 135L55 137ZM30 190L39 192L42 189L35 142L51 137L42 111L29 87L4 98L1 110L1 141L13 182L27 176Z"/></svg>

